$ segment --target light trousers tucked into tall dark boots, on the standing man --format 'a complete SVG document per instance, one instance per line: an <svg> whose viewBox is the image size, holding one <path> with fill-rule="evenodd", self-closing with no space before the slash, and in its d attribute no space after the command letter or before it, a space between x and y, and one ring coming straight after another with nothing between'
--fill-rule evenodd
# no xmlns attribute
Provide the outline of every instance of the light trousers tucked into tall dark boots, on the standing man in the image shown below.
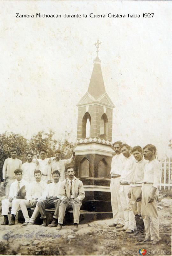
<svg viewBox="0 0 172 256"><path fill-rule="evenodd" d="M141 186L139 187L130 187L131 190L131 204L133 213L141 215L141 201L136 202L136 198L140 195L141 192Z"/></svg>

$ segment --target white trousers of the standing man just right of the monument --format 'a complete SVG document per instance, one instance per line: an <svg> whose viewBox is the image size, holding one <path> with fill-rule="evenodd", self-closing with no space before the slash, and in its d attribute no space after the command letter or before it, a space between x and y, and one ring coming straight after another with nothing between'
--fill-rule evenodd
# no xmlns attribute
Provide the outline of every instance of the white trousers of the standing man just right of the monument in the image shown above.
<svg viewBox="0 0 172 256"><path fill-rule="evenodd" d="M113 213L113 223L125 225L124 213L121 206L120 195L119 195L119 180L118 178L111 178L110 191L111 191L111 206Z"/></svg>

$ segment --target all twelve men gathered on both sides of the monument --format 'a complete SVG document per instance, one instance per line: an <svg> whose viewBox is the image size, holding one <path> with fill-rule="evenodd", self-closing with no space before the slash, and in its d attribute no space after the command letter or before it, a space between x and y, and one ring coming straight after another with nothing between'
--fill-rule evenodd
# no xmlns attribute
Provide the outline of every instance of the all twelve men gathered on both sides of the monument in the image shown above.
<svg viewBox="0 0 172 256"><path fill-rule="evenodd" d="M144 235L143 242L152 240L158 243L159 218L157 213L158 185L161 165L156 160L156 148L152 144L143 150L140 146L132 150L121 141L113 143L115 156L111 162L111 206L113 223L111 227L126 233ZM143 157L144 155L144 157ZM6 197L2 200L3 225L9 224L8 212L11 207L11 222L21 209L25 218L23 226L33 225L39 212L46 226L46 209L55 208L49 227L60 230L67 209L73 209L74 230L77 231L82 199L85 197L82 181L75 177L73 168L68 167L65 179L65 166L72 163L71 158L61 160L60 150L55 157L46 158L46 150L40 150L40 159L33 159L27 153L27 162L17 159L17 150L11 150L11 158L4 162L3 181ZM27 207L35 207L29 218ZM134 233L134 229L137 231Z"/></svg>

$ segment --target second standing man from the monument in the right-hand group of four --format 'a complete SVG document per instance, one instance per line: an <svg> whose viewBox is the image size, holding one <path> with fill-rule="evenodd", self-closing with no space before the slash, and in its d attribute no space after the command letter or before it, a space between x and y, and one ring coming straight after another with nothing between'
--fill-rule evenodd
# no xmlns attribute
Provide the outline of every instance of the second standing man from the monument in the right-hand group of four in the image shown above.
<svg viewBox="0 0 172 256"><path fill-rule="evenodd" d="M125 160L123 163L123 170L120 177L120 199L121 206L124 212L125 226L122 229L126 233L133 233L135 220L134 213L132 210L132 205L130 199L128 198L128 192L130 190L130 180L133 169L133 164L136 162L134 156L131 154L130 146L128 144L123 144L121 146L121 151L125 156ZM121 230L121 229L120 229Z"/></svg>

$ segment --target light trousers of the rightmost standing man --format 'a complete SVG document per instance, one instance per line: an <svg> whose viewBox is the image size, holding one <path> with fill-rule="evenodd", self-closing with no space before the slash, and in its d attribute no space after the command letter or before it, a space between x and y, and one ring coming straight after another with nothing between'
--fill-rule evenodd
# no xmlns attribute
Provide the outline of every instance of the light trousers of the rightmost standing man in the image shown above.
<svg viewBox="0 0 172 256"><path fill-rule="evenodd" d="M157 196L159 195L158 189L156 189L154 195L154 201L148 203L148 197L152 184L143 184L142 187L142 200L141 200L141 215L145 225L146 239L153 241L159 241L159 218L158 218L158 202Z"/></svg>

